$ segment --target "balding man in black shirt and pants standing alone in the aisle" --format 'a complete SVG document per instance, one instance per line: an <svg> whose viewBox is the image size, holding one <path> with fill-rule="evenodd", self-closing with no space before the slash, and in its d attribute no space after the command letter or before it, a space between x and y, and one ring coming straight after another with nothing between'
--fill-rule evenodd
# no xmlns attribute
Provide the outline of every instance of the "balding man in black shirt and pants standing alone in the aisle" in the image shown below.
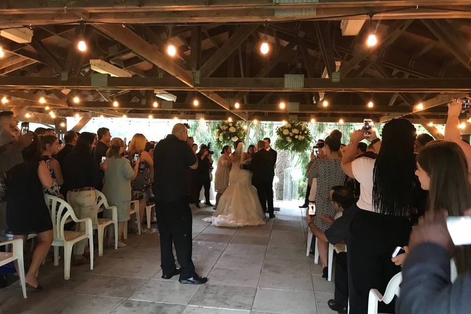
<svg viewBox="0 0 471 314"><path fill-rule="evenodd" d="M180 275L180 283L199 285L208 279L196 274L191 260L192 216L188 206L188 167L196 169L198 159L187 140L188 130L178 123L173 127L172 134L157 143L154 149L154 195L162 278ZM180 269L175 265L172 243Z"/></svg>

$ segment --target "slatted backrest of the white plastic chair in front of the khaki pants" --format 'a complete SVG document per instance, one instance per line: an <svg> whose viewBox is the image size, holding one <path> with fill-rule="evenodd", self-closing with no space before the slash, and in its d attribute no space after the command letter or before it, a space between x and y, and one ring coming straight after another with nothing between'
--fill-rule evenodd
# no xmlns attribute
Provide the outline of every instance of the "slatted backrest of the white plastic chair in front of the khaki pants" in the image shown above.
<svg viewBox="0 0 471 314"><path fill-rule="evenodd" d="M49 207L49 211L51 213L54 238L64 240L64 225L67 219L70 217L73 221L78 221L74 209L72 209L72 206L70 206L69 203L56 196L44 194L44 199L46 201L46 206Z"/></svg>

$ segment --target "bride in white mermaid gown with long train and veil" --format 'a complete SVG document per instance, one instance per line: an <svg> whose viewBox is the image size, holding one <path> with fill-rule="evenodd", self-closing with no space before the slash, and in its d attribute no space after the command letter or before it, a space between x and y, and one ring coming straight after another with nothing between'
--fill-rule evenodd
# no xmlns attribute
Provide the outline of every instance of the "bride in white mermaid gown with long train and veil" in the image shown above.
<svg viewBox="0 0 471 314"><path fill-rule="evenodd" d="M229 173L229 186L221 195L217 210L205 221L214 226L243 227L264 225L264 213L257 190L252 185L252 173L240 169L241 163L248 163L250 155L244 152L244 144L235 149L235 161Z"/></svg>

